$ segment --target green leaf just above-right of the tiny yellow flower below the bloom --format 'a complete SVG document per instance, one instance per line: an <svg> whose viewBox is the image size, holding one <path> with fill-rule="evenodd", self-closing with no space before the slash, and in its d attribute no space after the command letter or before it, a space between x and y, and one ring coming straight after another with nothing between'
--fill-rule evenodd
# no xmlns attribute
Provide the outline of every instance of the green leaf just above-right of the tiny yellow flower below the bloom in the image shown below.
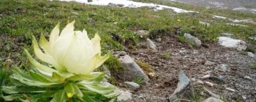
<svg viewBox="0 0 256 102"><path fill-rule="evenodd" d="M76 86L76 84L74 84L73 82L68 82L65 87L64 90L66 92L69 92L71 94L76 94L79 97L83 97L84 94L81 92L81 90L78 88L78 86Z"/></svg>

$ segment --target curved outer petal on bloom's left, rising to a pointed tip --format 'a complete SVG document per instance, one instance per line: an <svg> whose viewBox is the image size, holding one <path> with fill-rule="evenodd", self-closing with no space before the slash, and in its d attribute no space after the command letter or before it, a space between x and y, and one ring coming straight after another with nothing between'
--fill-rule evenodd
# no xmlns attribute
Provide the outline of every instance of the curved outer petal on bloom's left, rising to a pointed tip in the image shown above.
<svg viewBox="0 0 256 102"><path fill-rule="evenodd" d="M36 57L38 57L38 59L40 59L45 63L53 65L60 72L64 71L62 67L50 55L46 55L41 51L41 49L38 47L36 38L34 36L32 36L32 42L34 45L34 52L36 54Z"/></svg>

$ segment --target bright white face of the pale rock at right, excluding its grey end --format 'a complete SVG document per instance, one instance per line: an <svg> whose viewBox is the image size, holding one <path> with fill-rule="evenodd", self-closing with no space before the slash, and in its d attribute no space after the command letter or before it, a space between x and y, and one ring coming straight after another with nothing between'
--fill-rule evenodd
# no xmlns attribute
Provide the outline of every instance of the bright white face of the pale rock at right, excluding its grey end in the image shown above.
<svg viewBox="0 0 256 102"><path fill-rule="evenodd" d="M228 48L237 48L242 40L232 39L229 37L218 37L220 45Z"/></svg>

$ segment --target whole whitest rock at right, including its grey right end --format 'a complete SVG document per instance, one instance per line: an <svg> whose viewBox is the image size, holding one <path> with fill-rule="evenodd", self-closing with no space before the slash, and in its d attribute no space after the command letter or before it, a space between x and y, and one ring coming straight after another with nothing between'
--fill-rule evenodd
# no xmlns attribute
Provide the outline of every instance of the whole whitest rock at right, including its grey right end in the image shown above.
<svg viewBox="0 0 256 102"><path fill-rule="evenodd" d="M242 40L232 39L229 37L218 37L220 45L228 48L237 49L238 51L246 50L246 43Z"/></svg>

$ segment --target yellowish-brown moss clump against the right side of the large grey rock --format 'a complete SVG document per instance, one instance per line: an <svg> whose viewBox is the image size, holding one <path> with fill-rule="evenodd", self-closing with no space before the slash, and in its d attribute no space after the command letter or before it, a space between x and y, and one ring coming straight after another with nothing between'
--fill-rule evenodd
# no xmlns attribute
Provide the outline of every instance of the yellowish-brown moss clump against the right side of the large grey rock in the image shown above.
<svg viewBox="0 0 256 102"><path fill-rule="evenodd" d="M151 66L151 65L149 65L147 63L144 63L142 61L136 61L136 63L140 66L140 68L144 71L144 73L147 76L149 76L148 73L154 73L153 66Z"/></svg>

